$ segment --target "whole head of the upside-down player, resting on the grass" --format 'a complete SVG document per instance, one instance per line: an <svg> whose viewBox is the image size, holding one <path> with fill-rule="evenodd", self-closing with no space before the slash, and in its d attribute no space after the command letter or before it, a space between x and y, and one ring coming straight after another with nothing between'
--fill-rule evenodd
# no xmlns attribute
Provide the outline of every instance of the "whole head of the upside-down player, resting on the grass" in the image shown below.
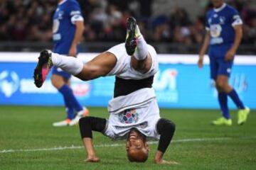
<svg viewBox="0 0 256 170"><path fill-rule="evenodd" d="M132 128L126 141L127 157L130 162L146 162L149 156L149 145L146 136L136 128Z"/></svg>

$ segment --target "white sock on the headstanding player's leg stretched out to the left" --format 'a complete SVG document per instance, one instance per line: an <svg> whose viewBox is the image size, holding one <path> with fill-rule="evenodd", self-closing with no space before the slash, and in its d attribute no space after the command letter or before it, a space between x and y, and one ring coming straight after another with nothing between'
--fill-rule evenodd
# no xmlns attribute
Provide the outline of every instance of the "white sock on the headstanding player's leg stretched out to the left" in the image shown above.
<svg viewBox="0 0 256 170"><path fill-rule="evenodd" d="M65 72L74 76L82 72L83 62L75 57L68 57L52 52L52 62L56 67L60 67Z"/></svg>

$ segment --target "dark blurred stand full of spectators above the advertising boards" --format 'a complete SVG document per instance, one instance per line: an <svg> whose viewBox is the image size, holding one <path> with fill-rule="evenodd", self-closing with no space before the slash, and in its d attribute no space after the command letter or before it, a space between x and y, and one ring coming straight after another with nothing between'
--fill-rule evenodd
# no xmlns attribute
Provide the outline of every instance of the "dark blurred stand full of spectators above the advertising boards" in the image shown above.
<svg viewBox="0 0 256 170"><path fill-rule="evenodd" d="M84 52L101 52L125 35L127 16L135 16L142 33L161 53L197 53L203 40L204 15L210 3L166 0L78 0L85 17ZM172 3L171 3L172 2ZM176 2L176 3L174 3ZM255 53L255 2L232 0L244 21L244 36L238 53ZM1 0L0 50L33 51L51 47L51 18L55 0ZM167 6L167 7L166 7ZM181 7L183 6L183 7ZM197 13L190 6L198 6ZM159 8L163 9L159 11ZM169 10L168 10L169 8ZM22 42L22 43L21 43ZM100 42L100 43L99 43Z"/></svg>

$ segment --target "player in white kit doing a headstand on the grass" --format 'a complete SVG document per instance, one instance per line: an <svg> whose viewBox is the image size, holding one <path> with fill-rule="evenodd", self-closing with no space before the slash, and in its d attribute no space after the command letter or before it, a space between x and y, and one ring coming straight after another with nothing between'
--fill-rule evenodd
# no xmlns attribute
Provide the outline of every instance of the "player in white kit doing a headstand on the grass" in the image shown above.
<svg viewBox="0 0 256 170"><path fill-rule="evenodd" d="M52 65L85 81L116 76L114 98L108 106L110 118L80 119L80 135L87 152L86 162L100 161L92 143L93 130L115 140L126 139L127 157L131 162L145 162L149 153L146 140L156 139L159 140L159 146L154 161L157 164L176 163L163 159L174 135L175 125L159 116L159 106L152 88L154 74L159 69L156 51L146 44L134 18L127 19L125 44L110 48L86 64L74 57L61 57L43 50L34 72L36 86L43 84Z"/></svg>

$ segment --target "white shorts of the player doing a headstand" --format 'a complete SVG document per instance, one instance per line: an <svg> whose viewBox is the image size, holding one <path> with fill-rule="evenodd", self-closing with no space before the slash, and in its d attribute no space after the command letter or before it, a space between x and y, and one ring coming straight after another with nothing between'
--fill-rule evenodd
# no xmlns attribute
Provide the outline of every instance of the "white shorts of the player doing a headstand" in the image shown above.
<svg viewBox="0 0 256 170"><path fill-rule="evenodd" d="M151 45L147 45L147 47L149 50L149 55L152 58L152 65L149 71L146 73L137 72L132 68L131 56L127 55L124 43L115 45L114 47L110 48L110 50L107 50L107 52L111 52L115 57L117 57L117 64L115 64L114 68L107 74L107 76L115 75L122 79L146 79L156 74L159 69L156 50L154 50L154 47Z"/></svg>

